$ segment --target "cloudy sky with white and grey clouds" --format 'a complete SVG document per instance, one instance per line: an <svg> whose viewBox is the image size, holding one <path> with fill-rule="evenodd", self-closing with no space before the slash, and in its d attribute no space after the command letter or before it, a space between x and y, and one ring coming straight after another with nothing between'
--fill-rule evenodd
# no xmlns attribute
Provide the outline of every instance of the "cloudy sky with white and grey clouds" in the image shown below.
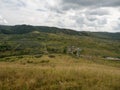
<svg viewBox="0 0 120 90"><path fill-rule="evenodd" d="M120 0L0 0L0 25L120 32Z"/></svg>

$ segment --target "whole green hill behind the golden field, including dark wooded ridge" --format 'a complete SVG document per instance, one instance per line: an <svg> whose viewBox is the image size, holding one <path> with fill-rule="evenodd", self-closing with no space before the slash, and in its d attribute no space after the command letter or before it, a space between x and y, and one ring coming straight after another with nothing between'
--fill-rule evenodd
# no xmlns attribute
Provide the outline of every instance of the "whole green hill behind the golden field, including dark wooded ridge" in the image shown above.
<svg viewBox="0 0 120 90"><path fill-rule="evenodd" d="M83 32L45 26L0 26L0 56L65 53L69 46L81 55L119 57L120 33Z"/></svg>

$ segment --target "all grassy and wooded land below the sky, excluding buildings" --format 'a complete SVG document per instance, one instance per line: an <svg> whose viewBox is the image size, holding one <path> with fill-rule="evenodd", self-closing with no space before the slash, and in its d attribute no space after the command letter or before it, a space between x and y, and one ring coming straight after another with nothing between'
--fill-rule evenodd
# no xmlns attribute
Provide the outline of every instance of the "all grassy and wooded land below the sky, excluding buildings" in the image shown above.
<svg viewBox="0 0 120 90"><path fill-rule="evenodd" d="M72 46L79 57L67 53ZM120 33L0 26L0 90L120 90L114 58Z"/></svg>

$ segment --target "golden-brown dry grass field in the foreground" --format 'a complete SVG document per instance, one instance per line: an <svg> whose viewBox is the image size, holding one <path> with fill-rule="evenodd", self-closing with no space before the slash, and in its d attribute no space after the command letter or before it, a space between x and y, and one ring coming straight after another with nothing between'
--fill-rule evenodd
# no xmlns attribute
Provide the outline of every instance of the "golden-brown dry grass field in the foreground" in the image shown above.
<svg viewBox="0 0 120 90"><path fill-rule="evenodd" d="M0 90L120 90L120 62L116 67L66 55L6 59L0 62Z"/></svg>

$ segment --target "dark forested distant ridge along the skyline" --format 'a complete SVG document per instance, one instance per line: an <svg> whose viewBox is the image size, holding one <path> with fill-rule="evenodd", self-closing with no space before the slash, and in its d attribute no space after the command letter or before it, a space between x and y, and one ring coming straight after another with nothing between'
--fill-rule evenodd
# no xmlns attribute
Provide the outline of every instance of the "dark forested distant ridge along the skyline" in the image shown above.
<svg viewBox="0 0 120 90"><path fill-rule="evenodd" d="M120 33L75 31L71 29L61 29L57 27L48 27L48 26L0 25L1 34L26 34L33 31L44 32L44 33L54 33L54 34L62 33L66 35L89 36L89 37L96 37L96 38L103 38L103 39L120 40Z"/></svg>

